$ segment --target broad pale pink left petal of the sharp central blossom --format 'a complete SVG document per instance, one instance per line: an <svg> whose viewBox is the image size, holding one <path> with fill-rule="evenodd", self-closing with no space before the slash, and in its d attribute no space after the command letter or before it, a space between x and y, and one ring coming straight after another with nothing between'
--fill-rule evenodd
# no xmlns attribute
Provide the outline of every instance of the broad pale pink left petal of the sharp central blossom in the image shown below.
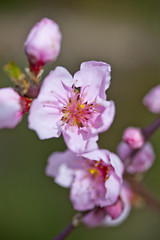
<svg viewBox="0 0 160 240"><path fill-rule="evenodd" d="M72 83L72 76L62 67L57 67L44 79L28 117L29 128L35 130L40 139L60 136L61 109L67 99L65 88L72 86Z"/></svg>

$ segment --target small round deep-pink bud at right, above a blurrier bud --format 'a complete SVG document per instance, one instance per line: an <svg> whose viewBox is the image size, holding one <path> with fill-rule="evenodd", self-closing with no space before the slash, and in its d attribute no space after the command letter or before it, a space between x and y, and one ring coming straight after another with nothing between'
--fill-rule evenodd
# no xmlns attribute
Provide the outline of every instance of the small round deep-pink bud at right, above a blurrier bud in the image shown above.
<svg viewBox="0 0 160 240"><path fill-rule="evenodd" d="M123 140L133 149L141 148L144 144L141 130L135 127L129 127L124 131Z"/></svg>

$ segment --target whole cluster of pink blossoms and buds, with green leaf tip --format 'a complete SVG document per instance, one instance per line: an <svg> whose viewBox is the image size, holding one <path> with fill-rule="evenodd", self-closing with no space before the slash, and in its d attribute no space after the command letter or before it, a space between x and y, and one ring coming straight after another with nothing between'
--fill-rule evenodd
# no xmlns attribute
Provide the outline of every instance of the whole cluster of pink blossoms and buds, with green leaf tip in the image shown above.
<svg viewBox="0 0 160 240"><path fill-rule="evenodd" d="M70 188L74 209L89 211L83 218L86 225L116 225L138 201L124 173L147 171L154 151L135 127L125 130L118 154L99 148L99 133L107 131L115 117L115 104L106 95L111 82L109 64L83 62L74 76L58 66L40 86L43 67L57 58L61 39L59 26L50 19L32 28L24 44L29 61L26 74L13 63L6 66L15 89L0 90L0 128L14 128L28 112L28 126L40 139L62 134L67 150L49 157L46 174ZM160 112L159 92L158 86L144 99L156 113Z"/></svg>

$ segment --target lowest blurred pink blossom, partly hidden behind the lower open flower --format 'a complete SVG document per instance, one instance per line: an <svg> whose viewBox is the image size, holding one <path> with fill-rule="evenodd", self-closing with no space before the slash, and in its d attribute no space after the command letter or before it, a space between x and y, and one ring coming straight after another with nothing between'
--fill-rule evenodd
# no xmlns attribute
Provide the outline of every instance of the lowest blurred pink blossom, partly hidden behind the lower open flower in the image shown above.
<svg viewBox="0 0 160 240"><path fill-rule="evenodd" d="M131 209L132 192L123 185L117 202L111 206L95 208L87 214L83 222L88 227L116 226L121 224L129 215Z"/></svg>

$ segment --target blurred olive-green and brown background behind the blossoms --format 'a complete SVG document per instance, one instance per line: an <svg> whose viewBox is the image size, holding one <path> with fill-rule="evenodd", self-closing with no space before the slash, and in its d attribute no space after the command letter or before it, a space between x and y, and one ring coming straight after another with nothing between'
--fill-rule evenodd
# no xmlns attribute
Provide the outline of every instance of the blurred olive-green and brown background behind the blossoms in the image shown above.
<svg viewBox="0 0 160 240"><path fill-rule="evenodd" d="M62 65L72 74L80 63L101 60L112 66L108 98L115 101L112 127L100 135L102 148L116 151L127 126L143 127L156 116L142 105L145 94L160 83L160 1L156 0L1 0L0 87L12 85L3 65L15 60L24 69L23 44L42 17L60 26L60 56L45 75ZM160 130L151 139L156 162L145 183L160 198ZM45 175L48 156L66 149L63 138L40 141L27 128L27 116L13 130L0 131L0 239L51 240L72 219L69 191ZM78 227L69 239L160 239L160 218L148 207L132 210L114 228Z"/></svg>

